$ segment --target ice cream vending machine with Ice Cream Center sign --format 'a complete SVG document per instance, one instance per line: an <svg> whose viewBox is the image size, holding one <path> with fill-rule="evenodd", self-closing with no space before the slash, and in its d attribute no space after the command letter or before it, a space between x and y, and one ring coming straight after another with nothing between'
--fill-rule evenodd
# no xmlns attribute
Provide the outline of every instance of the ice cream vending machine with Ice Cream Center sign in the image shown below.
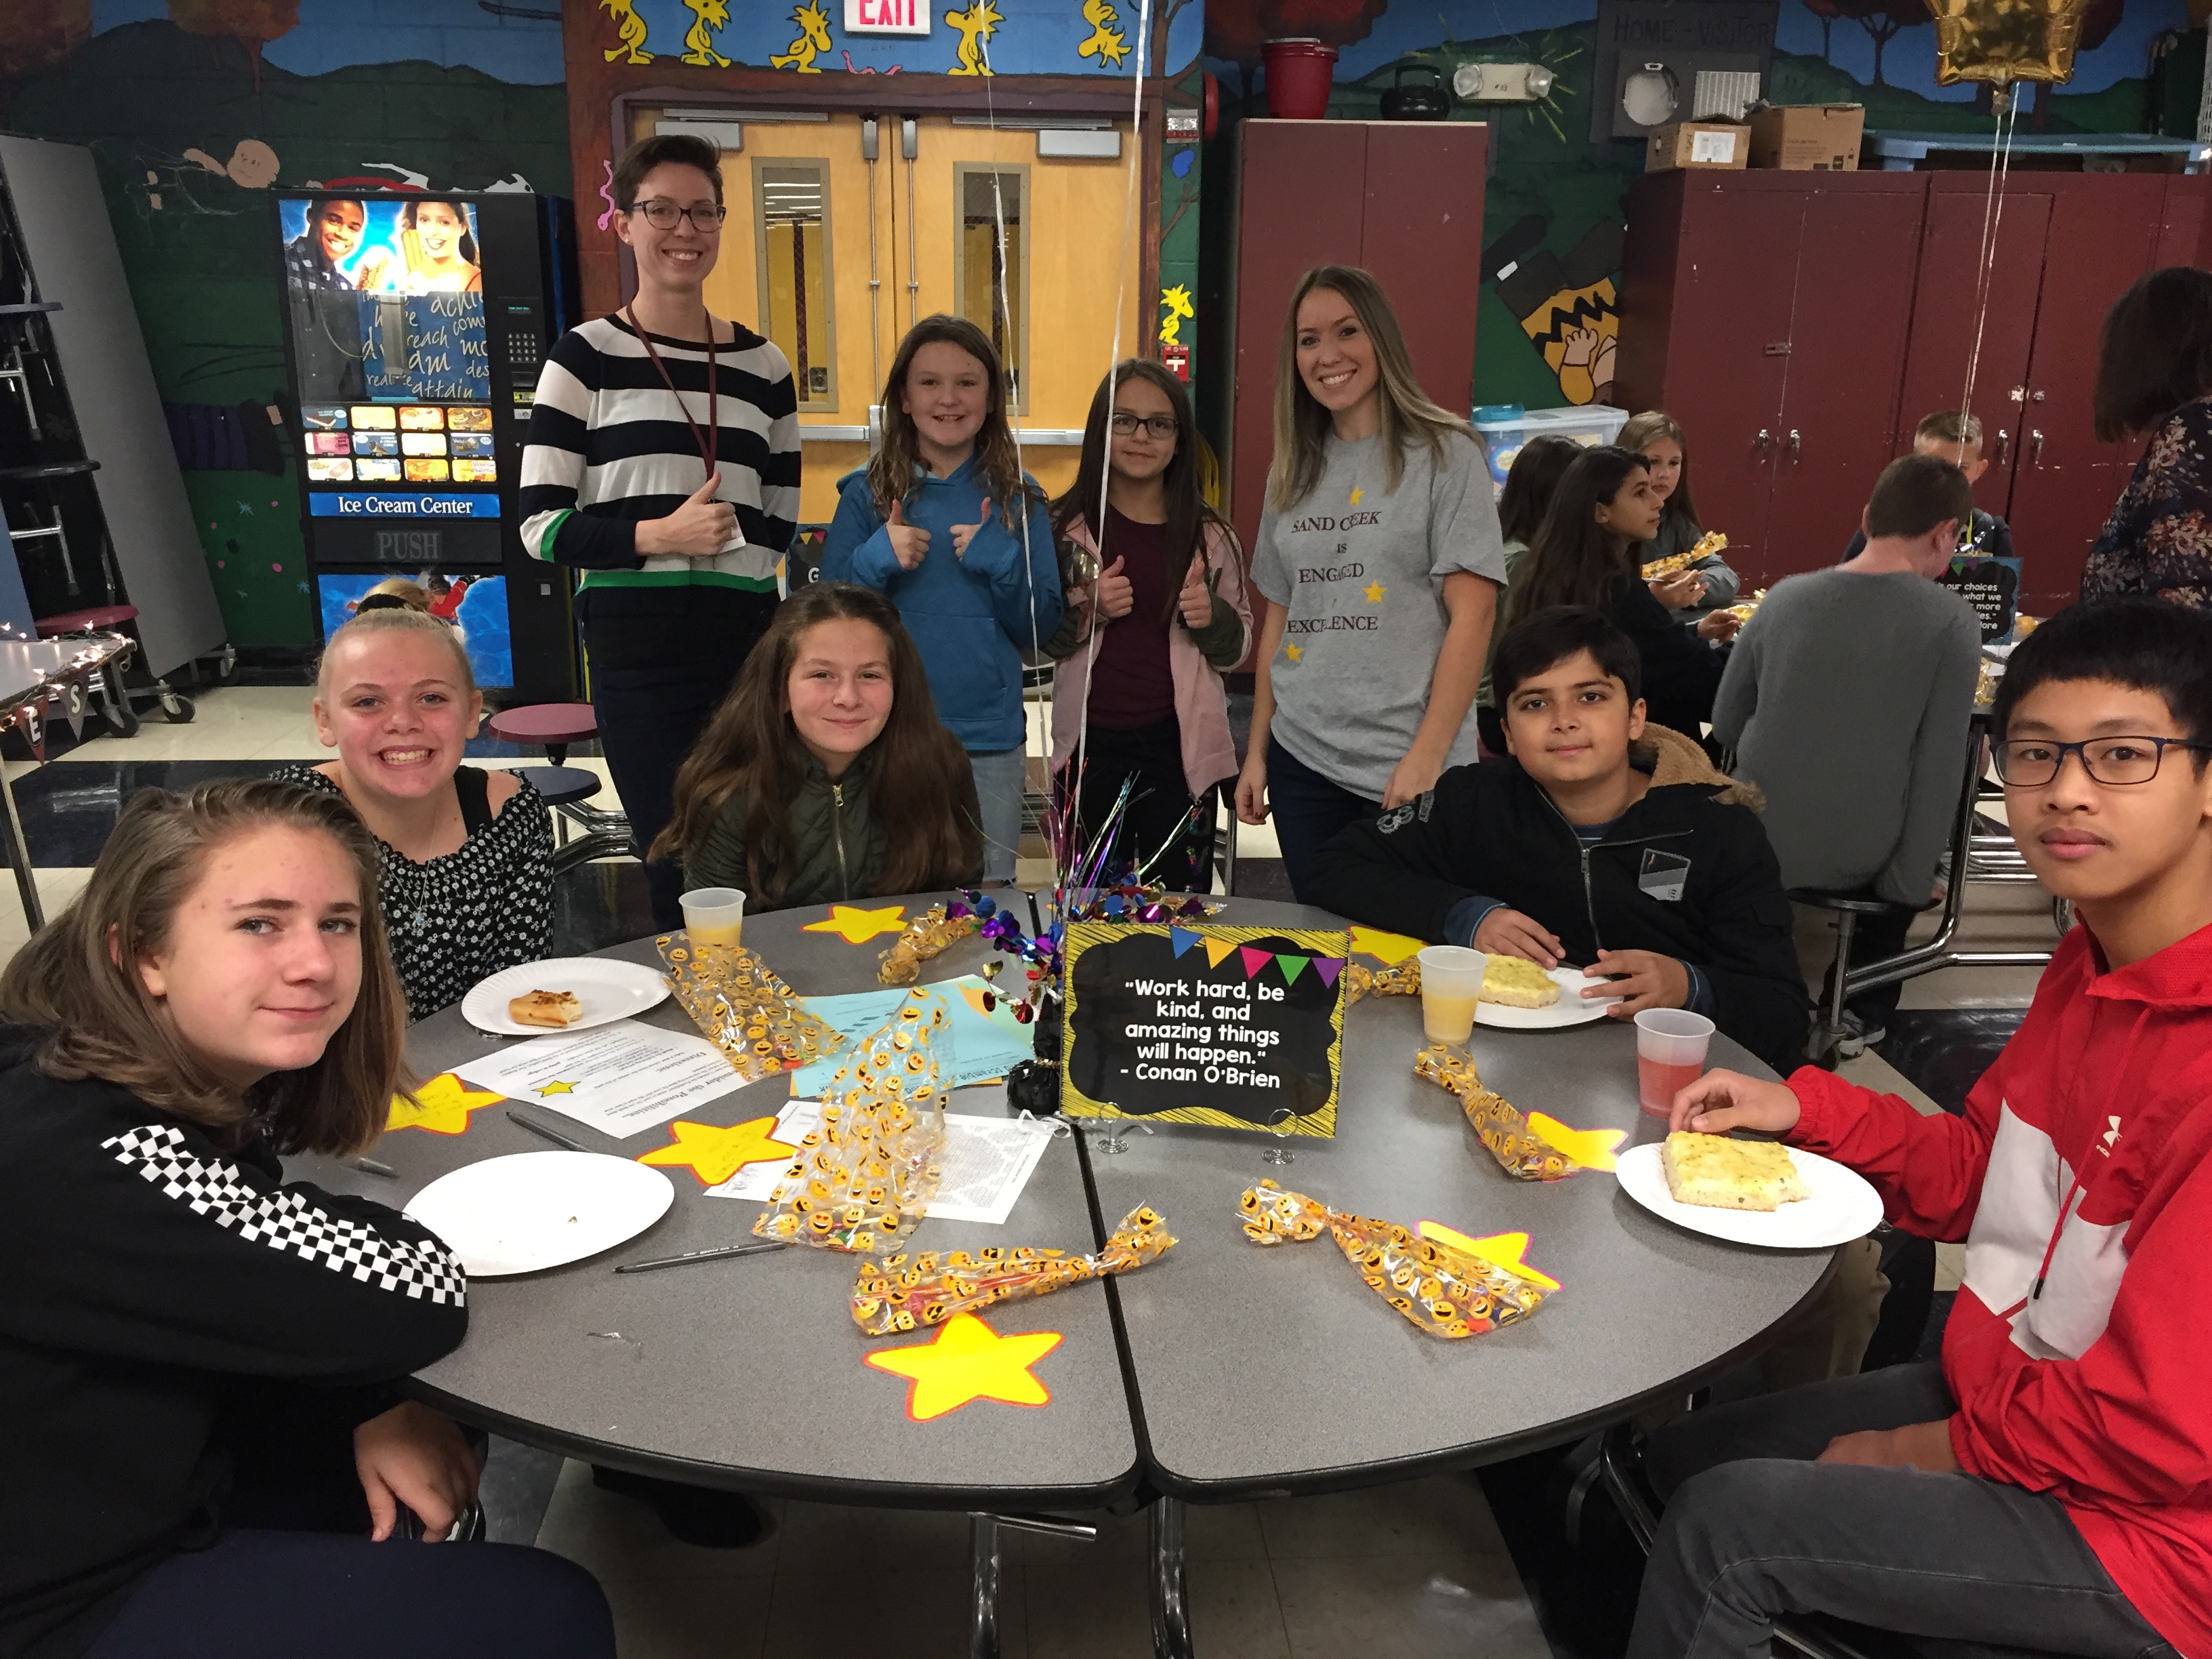
<svg viewBox="0 0 2212 1659"><path fill-rule="evenodd" d="M372 591L414 584L460 630L480 686L573 699L568 573L522 551L515 511L538 369L573 321L568 204L274 195L323 637Z"/></svg>

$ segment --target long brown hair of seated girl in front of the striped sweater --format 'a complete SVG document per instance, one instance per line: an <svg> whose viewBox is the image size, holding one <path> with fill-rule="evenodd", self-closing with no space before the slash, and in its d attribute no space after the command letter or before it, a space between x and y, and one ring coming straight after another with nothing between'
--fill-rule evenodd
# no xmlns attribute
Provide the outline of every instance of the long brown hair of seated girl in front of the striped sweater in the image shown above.
<svg viewBox="0 0 2212 1659"><path fill-rule="evenodd" d="M891 657L891 717L867 745L867 792L883 825L878 894L958 887L982 858L982 825L964 810L969 774L960 739L938 723L929 677L898 608L874 588L816 582L776 606L776 619L745 657L692 752L677 768L675 816L648 858L690 858L732 796L745 801L745 891L772 905L792 885L792 801L805 779L807 748L792 726L785 686L799 641L818 622L867 622Z"/></svg>

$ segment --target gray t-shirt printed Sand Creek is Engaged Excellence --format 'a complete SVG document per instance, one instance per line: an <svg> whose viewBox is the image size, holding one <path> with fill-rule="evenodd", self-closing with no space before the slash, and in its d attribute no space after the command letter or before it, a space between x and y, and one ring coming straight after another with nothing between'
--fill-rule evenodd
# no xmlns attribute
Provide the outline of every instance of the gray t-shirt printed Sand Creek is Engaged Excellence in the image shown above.
<svg viewBox="0 0 2212 1659"><path fill-rule="evenodd" d="M1380 801L1429 708L1453 571L1500 588L1506 580L1475 440L1449 436L1442 456L1407 447L1405 476L1387 489L1383 440L1332 434L1321 482L1296 507L1267 509L1252 546L1252 586L1290 611L1267 666L1274 739L1332 783ZM1444 765L1471 761L1473 708Z"/></svg>

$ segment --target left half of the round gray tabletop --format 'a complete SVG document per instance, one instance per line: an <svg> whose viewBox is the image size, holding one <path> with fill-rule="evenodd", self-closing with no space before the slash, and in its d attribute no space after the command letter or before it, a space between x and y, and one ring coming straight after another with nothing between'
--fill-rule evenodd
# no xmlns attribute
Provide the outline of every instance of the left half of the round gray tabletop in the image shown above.
<svg viewBox="0 0 2212 1659"><path fill-rule="evenodd" d="M920 900L927 902L927 900ZM745 945L801 993L876 989L876 958L889 938L845 945L803 933L825 911L745 918ZM909 900L909 914L918 914ZM657 962L650 940L606 951ZM973 973L987 960L967 940L925 969L925 980ZM650 1024L690 1031L672 1002ZM487 1051L458 1009L409 1033L425 1075ZM737 1124L774 1113L785 1079L730 1093L686 1117ZM951 1108L1002 1115L998 1086L962 1088ZM666 1141L661 1128L611 1141L555 1113L535 1113L588 1150L637 1157ZM372 1157L396 1181L312 1164L312 1179L405 1203L420 1186L462 1164L544 1150L507 1121L504 1108L473 1115L467 1135L396 1130ZM602 1256L518 1279L469 1285L469 1338L420 1374L425 1398L453 1416L511 1431L593 1462L836 1502L900 1506L1097 1506L1137 1484L1137 1438L1097 1283L991 1310L1002 1336L1062 1332L1033 1367L1051 1405L1026 1409L975 1400L931 1422L907 1418L907 1383L863 1363L872 1349L922 1338L865 1338L852 1323L854 1256L787 1250L732 1261L615 1276L617 1261L750 1241L761 1203L708 1197L690 1170L668 1170L675 1208L648 1232ZM1091 1243L1091 1206L1073 1139L1055 1139L1006 1225L925 1221L918 1250Z"/></svg>

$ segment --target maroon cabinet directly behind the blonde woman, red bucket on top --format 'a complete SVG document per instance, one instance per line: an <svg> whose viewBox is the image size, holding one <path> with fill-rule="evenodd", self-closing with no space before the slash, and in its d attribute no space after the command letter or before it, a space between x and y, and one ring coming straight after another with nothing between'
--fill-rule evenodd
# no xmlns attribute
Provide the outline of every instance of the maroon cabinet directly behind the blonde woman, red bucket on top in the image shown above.
<svg viewBox="0 0 2212 1659"><path fill-rule="evenodd" d="M1365 265L1389 294L1413 374L1467 414L1482 288L1489 128L1475 122L1241 122L1237 128L1230 522L1250 549L1274 456L1274 365L1290 290L1314 265Z"/></svg>

